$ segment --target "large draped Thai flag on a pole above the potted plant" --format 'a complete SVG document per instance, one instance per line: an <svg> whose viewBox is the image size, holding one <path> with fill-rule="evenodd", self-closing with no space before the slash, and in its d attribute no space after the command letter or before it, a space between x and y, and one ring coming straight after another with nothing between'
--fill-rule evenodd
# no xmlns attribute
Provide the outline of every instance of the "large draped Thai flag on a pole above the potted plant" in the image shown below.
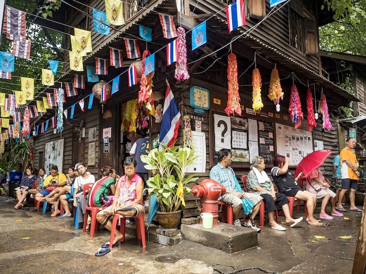
<svg viewBox="0 0 366 274"><path fill-rule="evenodd" d="M167 82L167 91L165 94L163 118L161 120L159 142L172 148L178 135L180 125L180 112L175 101L174 94ZM160 144L159 149L164 147Z"/></svg>

